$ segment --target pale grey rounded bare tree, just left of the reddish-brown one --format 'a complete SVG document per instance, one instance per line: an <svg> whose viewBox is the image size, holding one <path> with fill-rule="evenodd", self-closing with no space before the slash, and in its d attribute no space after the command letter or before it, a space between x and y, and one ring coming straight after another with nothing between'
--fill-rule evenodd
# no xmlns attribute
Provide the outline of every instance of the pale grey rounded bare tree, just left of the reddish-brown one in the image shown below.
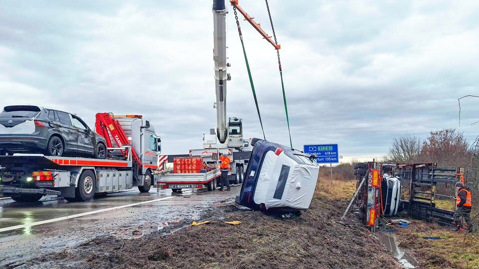
<svg viewBox="0 0 479 269"><path fill-rule="evenodd" d="M411 134L394 137L393 144L389 148L388 159L392 162L412 162L422 149L421 140Z"/></svg>

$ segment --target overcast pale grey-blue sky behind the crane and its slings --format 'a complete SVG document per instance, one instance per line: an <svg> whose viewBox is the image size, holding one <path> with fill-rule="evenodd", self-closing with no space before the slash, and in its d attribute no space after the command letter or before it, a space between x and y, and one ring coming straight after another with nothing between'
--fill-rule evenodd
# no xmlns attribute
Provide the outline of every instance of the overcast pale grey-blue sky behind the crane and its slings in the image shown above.
<svg viewBox="0 0 479 269"><path fill-rule="evenodd" d="M381 3L379 3L381 2ZM293 146L338 143L380 157L394 136L479 135L479 1L270 0ZM271 34L261 0L240 5ZM163 153L188 153L216 127L212 1L5 0L0 106L142 114ZM228 16L228 116L260 137L236 22ZM268 140L288 144L276 51L240 20Z"/></svg>

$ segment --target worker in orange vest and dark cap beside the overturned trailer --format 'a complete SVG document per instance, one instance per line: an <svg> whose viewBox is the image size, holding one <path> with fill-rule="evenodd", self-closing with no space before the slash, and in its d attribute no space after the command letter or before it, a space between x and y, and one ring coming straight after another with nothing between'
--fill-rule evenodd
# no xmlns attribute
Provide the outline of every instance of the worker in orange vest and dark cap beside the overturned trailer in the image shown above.
<svg viewBox="0 0 479 269"><path fill-rule="evenodd" d="M459 181L456 183L456 189L458 190L458 194L456 196L456 214L454 218L454 222L457 225L457 231L465 231L465 227L463 227L463 222L461 221L461 217L464 219L464 222L468 225L468 232L472 232L472 225L471 225L471 208L472 198L471 198L471 191L464 187L464 184Z"/></svg>

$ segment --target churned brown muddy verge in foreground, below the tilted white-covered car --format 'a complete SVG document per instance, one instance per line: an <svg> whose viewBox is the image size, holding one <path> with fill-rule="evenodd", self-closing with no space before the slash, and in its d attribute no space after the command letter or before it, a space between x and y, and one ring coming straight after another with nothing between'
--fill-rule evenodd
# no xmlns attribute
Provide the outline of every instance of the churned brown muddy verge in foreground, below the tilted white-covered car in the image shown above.
<svg viewBox="0 0 479 269"><path fill-rule="evenodd" d="M95 238L22 267L401 268L359 223L352 222L348 228L334 222L345 208L344 200L315 197L308 211L283 220L237 206L233 202L237 192L239 188L203 215L209 224L188 226L167 236L158 232L136 239Z"/></svg>

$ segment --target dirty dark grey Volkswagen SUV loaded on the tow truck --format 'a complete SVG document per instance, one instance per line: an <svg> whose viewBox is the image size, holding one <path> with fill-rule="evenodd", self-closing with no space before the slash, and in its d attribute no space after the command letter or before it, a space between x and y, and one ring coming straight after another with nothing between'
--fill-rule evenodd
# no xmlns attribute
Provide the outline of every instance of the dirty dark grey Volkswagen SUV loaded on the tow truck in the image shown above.
<svg viewBox="0 0 479 269"><path fill-rule="evenodd" d="M38 106L7 106L0 112L0 155L106 157L105 138L78 116Z"/></svg>

